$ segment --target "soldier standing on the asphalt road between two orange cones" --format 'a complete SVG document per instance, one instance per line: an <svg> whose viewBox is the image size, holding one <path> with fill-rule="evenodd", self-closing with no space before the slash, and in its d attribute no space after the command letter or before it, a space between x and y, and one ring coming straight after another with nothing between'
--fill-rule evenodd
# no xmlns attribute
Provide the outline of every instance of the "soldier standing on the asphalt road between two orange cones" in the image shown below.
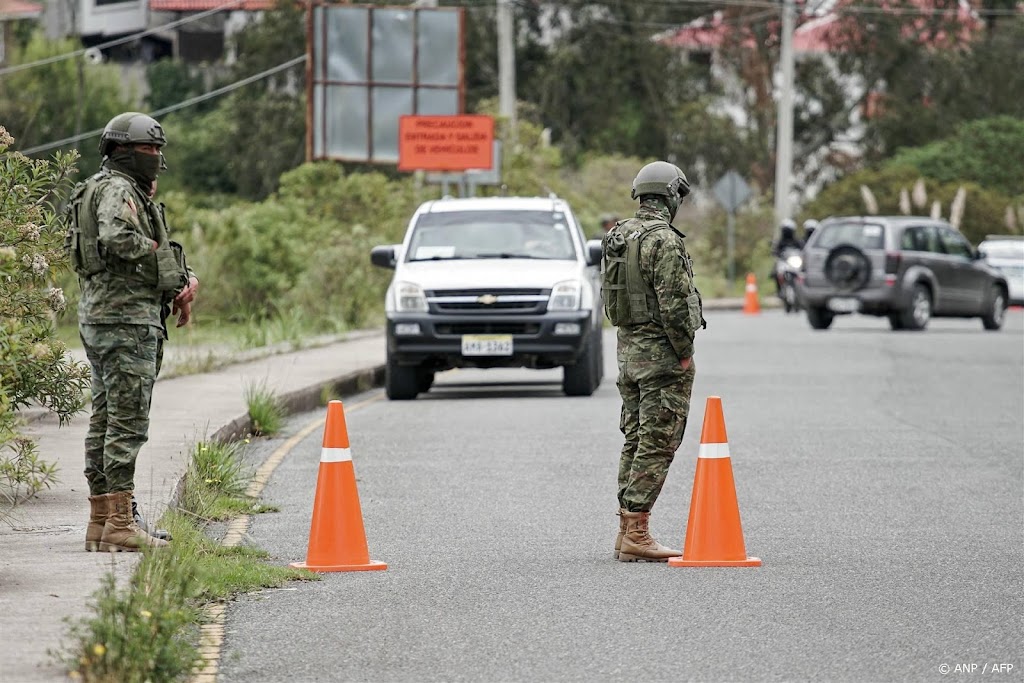
<svg viewBox="0 0 1024 683"><path fill-rule="evenodd" d="M648 532L651 508L683 439L693 390L693 338L703 326L700 295L683 233L671 225L686 176L667 162L640 169L634 218L603 240L605 312L618 328L620 530L614 556L624 562L666 562L681 555Z"/></svg>

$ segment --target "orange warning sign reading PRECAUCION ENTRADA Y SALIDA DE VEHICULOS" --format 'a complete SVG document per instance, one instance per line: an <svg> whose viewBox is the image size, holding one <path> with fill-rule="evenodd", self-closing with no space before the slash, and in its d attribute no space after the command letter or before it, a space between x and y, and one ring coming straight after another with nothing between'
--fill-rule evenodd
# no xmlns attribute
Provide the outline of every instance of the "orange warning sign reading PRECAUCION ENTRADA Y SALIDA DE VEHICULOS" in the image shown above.
<svg viewBox="0 0 1024 683"><path fill-rule="evenodd" d="M398 118L399 171L468 171L494 164L495 120L488 116Z"/></svg>

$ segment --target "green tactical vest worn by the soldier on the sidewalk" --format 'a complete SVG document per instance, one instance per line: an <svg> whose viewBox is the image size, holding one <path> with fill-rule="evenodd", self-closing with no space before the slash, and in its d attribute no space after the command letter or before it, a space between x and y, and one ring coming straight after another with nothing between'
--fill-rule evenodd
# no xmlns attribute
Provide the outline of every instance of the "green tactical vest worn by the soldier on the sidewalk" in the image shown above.
<svg viewBox="0 0 1024 683"><path fill-rule="evenodd" d="M72 268L84 280L105 270L155 287L161 292L180 291L187 284L188 278L183 261L179 262L180 259L176 257L168 241L163 205L158 209L148 198L142 197L138 191L133 193L140 208L139 220L153 228L153 239L160 245L157 251L137 261L126 261L108 254L99 244L99 224L92 208L93 198L96 190L113 178L114 175L103 169L79 183L69 198L65 251Z"/></svg>

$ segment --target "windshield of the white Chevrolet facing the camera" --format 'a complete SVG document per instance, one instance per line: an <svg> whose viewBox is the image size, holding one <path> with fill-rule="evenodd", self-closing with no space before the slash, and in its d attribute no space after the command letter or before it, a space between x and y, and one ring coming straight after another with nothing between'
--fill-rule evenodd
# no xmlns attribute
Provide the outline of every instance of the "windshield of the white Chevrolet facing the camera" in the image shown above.
<svg viewBox="0 0 1024 683"><path fill-rule="evenodd" d="M461 258L574 260L565 215L551 211L439 211L416 221L410 261Z"/></svg>

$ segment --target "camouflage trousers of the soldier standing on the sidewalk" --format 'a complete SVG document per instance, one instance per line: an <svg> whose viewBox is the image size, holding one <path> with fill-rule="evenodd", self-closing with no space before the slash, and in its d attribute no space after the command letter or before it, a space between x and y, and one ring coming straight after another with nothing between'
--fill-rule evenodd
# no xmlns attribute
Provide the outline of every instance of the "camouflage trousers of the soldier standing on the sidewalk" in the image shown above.
<svg viewBox="0 0 1024 683"><path fill-rule="evenodd" d="M135 460L150 438L153 385L163 359L160 328L79 325L92 367L92 415L85 436L89 494L135 488Z"/></svg>

